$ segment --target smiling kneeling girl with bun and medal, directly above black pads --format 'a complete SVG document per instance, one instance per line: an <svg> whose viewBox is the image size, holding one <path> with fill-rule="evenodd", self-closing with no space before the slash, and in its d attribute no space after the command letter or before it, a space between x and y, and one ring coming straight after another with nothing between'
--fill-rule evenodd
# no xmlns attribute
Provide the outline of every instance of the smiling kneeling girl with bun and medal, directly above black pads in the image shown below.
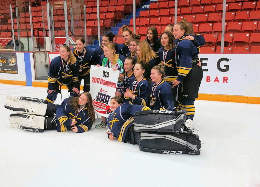
<svg viewBox="0 0 260 187"><path fill-rule="evenodd" d="M152 84L149 90L148 106L155 110L173 110L172 87L164 81L165 65L160 63L151 70Z"/></svg>

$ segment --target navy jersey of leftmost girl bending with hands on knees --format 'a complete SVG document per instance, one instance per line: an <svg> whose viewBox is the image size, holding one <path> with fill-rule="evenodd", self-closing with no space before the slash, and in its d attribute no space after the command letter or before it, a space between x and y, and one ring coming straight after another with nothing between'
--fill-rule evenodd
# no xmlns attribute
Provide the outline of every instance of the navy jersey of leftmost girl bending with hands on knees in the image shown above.
<svg viewBox="0 0 260 187"><path fill-rule="evenodd" d="M78 75L79 70L77 61L75 64L71 64L68 59L68 62L65 64L60 56L55 57L51 61L50 70L48 73L48 89L59 89L59 85L67 86L71 81L75 83L74 87L76 87Z"/></svg>

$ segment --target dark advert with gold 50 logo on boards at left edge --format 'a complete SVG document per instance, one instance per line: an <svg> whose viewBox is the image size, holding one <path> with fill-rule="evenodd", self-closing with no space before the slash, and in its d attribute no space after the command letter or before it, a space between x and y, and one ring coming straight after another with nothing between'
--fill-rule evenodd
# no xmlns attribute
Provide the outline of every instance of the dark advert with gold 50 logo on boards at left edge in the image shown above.
<svg viewBox="0 0 260 187"><path fill-rule="evenodd" d="M18 74L16 53L0 53L0 73Z"/></svg>

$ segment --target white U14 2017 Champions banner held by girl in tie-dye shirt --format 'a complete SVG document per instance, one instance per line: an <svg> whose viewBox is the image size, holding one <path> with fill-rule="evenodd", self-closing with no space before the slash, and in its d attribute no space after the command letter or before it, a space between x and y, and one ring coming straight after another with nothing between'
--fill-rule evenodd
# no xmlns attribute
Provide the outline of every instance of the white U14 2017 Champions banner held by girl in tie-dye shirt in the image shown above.
<svg viewBox="0 0 260 187"><path fill-rule="evenodd" d="M110 99L115 96L119 71L112 68L90 67L90 94L96 114L108 117L110 110Z"/></svg>

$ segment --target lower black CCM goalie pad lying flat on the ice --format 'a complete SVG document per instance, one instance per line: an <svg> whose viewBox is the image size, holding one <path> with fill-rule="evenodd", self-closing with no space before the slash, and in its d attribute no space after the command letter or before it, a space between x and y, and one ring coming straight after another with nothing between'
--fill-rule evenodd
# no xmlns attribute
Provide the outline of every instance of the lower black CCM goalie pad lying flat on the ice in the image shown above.
<svg viewBox="0 0 260 187"><path fill-rule="evenodd" d="M140 134L140 151L160 154L199 155L201 141L197 134L191 133L146 133Z"/></svg>

